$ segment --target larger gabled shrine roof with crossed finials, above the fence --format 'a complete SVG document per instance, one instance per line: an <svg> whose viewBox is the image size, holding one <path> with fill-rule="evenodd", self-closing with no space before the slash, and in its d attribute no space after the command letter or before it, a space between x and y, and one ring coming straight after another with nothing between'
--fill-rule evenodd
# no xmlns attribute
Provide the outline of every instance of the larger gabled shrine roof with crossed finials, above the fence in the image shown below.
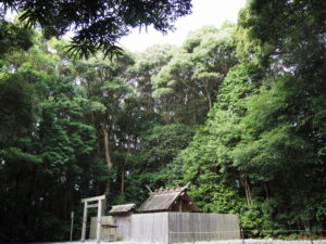
<svg viewBox="0 0 326 244"><path fill-rule="evenodd" d="M160 189L150 193L150 196L145 203L138 208L139 211L163 211L170 210L172 205L179 198L186 201L192 205L192 210L199 208L192 204L189 196L186 194L187 187L185 188L172 188L172 189Z"/></svg>

